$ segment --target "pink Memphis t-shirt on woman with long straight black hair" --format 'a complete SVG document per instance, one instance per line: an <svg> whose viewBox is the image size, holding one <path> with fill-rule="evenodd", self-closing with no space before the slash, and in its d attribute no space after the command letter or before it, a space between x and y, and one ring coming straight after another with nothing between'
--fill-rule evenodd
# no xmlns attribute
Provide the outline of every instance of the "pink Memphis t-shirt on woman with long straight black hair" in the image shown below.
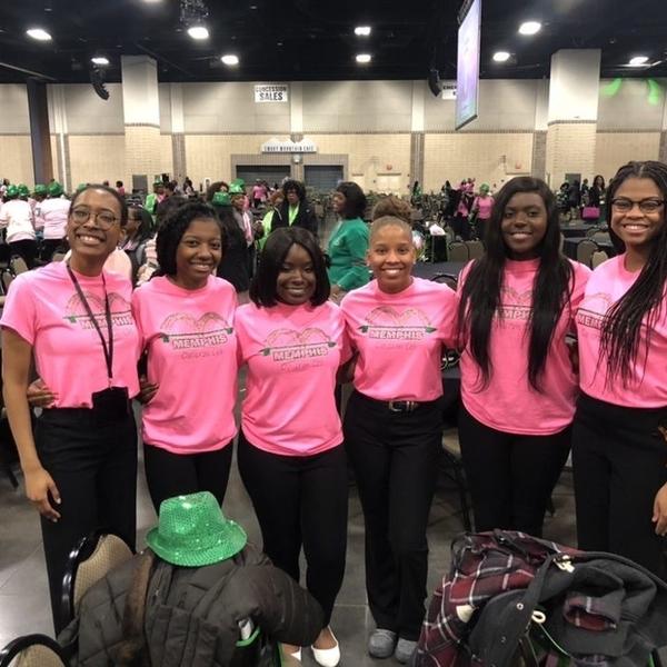
<svg viewBox="0 0 667 667"><path fill-rule="evenodd" d="M461 399L466 410L485 426L499 431L521 435L551 435L561 431L573 420L577 398L575 375L565 336L574 332L577 308L584 297L590 269L571 262L574 285L569 305L566 303L556 325L542 376L542 391L528 381L528 318L532 308L532 288L539 259L506 260L500 309L491 322L489 339L490 377L486 388L468 341L461 352ZM459 296L471 263L464 269Z"/></svg>

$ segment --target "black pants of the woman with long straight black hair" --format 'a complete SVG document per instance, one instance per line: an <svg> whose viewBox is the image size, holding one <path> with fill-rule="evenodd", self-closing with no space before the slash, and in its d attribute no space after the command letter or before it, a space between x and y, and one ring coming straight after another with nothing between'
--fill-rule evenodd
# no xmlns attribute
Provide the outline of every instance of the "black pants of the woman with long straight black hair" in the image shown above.
<svg viewBox="0 0 667 667"><path fill-rule="evenodd" d="M571 427L551 436L507 434L459 411L459 441L475 529L541 537L545 511L571 444Z"/></svg>

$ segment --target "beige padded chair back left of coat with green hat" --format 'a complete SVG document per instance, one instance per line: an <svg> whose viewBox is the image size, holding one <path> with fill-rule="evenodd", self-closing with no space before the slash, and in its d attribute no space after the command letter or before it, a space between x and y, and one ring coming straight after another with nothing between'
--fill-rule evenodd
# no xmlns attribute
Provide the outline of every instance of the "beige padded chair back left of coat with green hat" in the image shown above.
<svg viewBox="0 0 667 667"><path fill-rule="evenodd" d="M62 581L62 615L67 623L77 616L86 591L132 556L121 537L102 531L84 537L72 549Z"/></svg>

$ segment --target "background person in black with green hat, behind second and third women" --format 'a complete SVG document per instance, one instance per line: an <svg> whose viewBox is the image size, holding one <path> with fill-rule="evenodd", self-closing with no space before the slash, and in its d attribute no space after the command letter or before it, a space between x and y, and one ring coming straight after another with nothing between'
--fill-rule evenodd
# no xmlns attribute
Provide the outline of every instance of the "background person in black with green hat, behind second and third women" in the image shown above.
<svg viewBox="0 0 667 667"><path fill-rule="evenodd" d="M231 197L227 192L216 192L211 206L222 223L227 240L227 248L218 265L218 278L231 282L239 303L247 303L250 288L250 253L246 237L235 218Z"/></svg>

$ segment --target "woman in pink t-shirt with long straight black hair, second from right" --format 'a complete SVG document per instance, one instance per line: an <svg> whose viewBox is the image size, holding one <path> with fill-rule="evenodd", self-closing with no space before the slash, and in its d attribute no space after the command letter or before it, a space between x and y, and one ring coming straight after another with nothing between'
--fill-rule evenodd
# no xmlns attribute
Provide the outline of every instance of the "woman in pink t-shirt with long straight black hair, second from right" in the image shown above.
<svg viewBox="0 0 667 667"><path fill-rule="evenodd" d="M541 536L570 449L577 377L566 336L590 271L559 243L548 186L512 178L498 192L485 255L459 283L459 439L477 530Z"/></svg>

